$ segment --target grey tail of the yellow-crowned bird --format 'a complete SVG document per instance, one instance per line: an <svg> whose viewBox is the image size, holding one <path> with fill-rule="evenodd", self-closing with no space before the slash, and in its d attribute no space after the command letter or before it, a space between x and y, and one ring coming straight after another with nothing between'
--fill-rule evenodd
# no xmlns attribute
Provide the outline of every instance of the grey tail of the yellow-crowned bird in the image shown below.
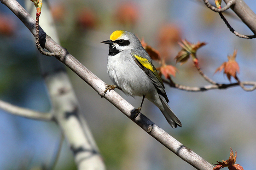
<svg viewBox="0 0 256 170"><path fill-rule="evenodd" d="M165 119L168 121L168 123L172 126L172 128L177 128L177 126L182 126L179 118L173 113L172 109L169 107L168 103L166 102L165 98L159 94L160 100L163 103L164 110L161 110L163 113Z"/></svg>

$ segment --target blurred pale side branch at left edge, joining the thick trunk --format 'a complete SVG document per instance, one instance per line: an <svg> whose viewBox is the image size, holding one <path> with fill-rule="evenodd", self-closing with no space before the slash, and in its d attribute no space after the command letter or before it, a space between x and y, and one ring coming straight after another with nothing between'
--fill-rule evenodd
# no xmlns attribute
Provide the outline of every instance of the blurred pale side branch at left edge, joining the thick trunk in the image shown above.
<svg viewBox="0 0 256 170"><path fill-rule="evenodd" d="M44 120L44 121L51 121L53 119L52 112L49 113L42 113L36 112L34 110L30 110L27 108L17 107L12 105L8 102L4 102L0 100L0 109L5 110L8 113L13 115L22 116L29 119L36 119L36 120Z"/></svg>

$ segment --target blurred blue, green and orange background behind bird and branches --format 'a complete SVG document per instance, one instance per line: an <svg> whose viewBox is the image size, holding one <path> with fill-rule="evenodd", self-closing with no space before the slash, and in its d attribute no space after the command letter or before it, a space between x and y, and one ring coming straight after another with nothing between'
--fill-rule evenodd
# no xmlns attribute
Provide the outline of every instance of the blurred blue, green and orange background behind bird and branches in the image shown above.
<svg viewBox="0 0 256 170"><path fill-rule="evenodd" d="M24 1L18 1L24 6ZM214 0L210 1L212 4ZM256 12L255 0L245 0ZM31 2L32 3L32 2ZM49 0L60 44L107 84L108 40L117 29L134 32L178 68L175 83L208 85L192 60L175 65L181 39L206 42L198 50L203 72L218 83L229 83L215 69L238 49L241 81L256 81L256 40L232 34L218 13L201 0ZM225 3L222 3L224 6ZM44 5L42 13L44 12ZM253 34L228 10L224 14L241 33ZM51 35L50 35L51 36ZM17 106L48 112L51 108L36 57L35 39L3 4L0 4L0 99ZM155 66L159 66L154 62ZM135 125L119 110L67 68L87 123L109 170L194 170ZM232 82L235 82L232 79ZM256 167L256 91L240 87L187 92L166 86L170 107L182 122L172 129L160 110L145 100L142 113L209 163L226 160L230 147L245 170ZM125 96L135 108L141 98ZM60 140L55 123L14 116L0 110L0 169L37 170L51 162ZM66 141L55 170L76 170Z"/></svg>

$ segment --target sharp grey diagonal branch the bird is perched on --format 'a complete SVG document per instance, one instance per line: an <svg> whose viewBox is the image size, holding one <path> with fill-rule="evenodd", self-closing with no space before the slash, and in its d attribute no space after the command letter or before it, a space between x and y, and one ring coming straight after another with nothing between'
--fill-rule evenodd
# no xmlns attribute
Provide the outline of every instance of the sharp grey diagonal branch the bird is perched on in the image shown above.
<svg viewBox="0 0 256 170"><path fill-rule="evenodd" d="M18 17L20 20L29 28L29 30L35 36L35 21L29 14L20 6L16 0L1 0L8 8ZM191 149L185 147L175 138L166 133L163 129L155 125L150 119L145 117L143 114L139 114L135 119L134 110L135 108L119 96L115 91L110 91L104 95L105 83L90 72L85 66L76 60L71 54L68 53L63 47L58 45L55 41L46 35L45 48L50 52L61 51L58 60L67 65L72 71L74 71L81 79L87 82L101 97L104 97L111 102L116 108L124 113L129 119L133 120L148 134L154 137L158 142L162 143L169 150L178 155L181 159L191 164L198 170L212 170L213 165L209 164L203 158L194 153Z"/></svg>

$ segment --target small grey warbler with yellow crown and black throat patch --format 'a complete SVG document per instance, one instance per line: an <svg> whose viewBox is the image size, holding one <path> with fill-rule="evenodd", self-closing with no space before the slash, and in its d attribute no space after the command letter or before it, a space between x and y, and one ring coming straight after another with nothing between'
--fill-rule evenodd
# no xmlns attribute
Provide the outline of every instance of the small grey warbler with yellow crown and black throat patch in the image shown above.
<svg viewBox="0 0 256 170"><path fill-rule="evenodd" d="M163 113L168 123L173 127L182 126L180 120L168 105L169 99L164 90L163 81L152 64L152 59L142 47L135 34L116 30L110 40L102 41L109 45L107 72L114 85L107 85L104 94L118 88L126 95L147 98Z"/></svg>

